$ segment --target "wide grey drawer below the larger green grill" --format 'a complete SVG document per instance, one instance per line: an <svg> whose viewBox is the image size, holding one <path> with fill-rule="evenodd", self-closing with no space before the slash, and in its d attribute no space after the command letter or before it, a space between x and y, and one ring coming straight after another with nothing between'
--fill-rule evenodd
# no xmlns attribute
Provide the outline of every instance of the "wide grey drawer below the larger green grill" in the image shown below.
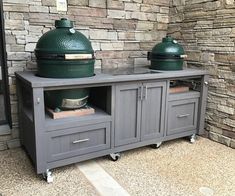
<svg viewBox="0 0 235 196"><path fill-rule="evenodd" d="M110 122L48 133L48 162L110 148Z"/></svg>

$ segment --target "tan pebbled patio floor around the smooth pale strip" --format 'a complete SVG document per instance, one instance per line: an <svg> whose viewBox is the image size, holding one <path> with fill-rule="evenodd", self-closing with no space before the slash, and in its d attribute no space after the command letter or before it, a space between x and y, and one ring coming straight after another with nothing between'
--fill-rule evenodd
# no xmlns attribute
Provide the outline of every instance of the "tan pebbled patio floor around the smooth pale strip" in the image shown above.
<svg viewBox="0 0 235 196"><path fill-rule="evenodd" d="M2 151L0 195L103 195L80 171L86 163L89 169L90 161L52 170L55 180L47 184L21 148ZM205 138L126 151L117 162L102 157L95 164L130 195L235 195L235 150Z"/></svg>

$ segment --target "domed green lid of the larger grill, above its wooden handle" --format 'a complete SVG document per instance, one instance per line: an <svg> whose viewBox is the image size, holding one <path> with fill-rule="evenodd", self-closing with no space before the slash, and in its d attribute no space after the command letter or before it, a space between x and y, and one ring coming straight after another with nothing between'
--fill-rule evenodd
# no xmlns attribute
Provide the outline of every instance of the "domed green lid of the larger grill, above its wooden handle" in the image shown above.
<svg viewBox="0 0 235 196"><path fill-rule="evenodd" d="M38 40L35 55L37 58L47 54L93 54L91 42L73 28L73 22L62 18L55 21L56 29L43 34Z"/></svg>

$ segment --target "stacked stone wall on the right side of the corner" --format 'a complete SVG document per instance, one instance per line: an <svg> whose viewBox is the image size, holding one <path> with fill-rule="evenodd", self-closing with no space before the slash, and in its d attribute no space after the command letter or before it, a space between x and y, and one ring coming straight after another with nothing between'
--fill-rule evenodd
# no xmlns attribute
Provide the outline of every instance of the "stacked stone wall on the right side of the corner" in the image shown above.
<svg viewBox="0 0 235 196"><path fill-rule="evenodd" d="M184 45L188 67L210 72L208 137L235 148L235 1L172 0L168 33Z"/></svg>

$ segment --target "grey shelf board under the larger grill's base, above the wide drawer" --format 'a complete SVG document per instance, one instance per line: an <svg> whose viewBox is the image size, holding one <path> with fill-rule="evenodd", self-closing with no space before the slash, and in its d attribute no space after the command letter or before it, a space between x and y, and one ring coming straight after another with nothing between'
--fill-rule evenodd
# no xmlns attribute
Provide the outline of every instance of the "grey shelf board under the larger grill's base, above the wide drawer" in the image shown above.
<svg viewBox="0 0 235 196"><path fill-rule="evenodd" d="M92 106L93 107L93 106ZM47 113L45 114L45 126L47 131L53 131L57 129L66 129L69 127L82 126L85 124L99 123L111 121L112 117L103 110L93 107L95 109L94 114L85 116L73 116L60 119L52 119Z"/></svg>

